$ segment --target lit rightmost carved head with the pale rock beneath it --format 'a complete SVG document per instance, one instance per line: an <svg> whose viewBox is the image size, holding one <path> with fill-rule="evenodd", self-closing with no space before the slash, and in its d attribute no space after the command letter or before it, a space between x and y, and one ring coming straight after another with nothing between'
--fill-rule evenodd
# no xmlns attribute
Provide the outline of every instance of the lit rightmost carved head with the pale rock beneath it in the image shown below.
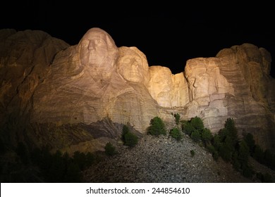
<svg viewBox="0 0 275 197"><path fill-rule="evenodd" d="M190 102L185 106L185 118L199 116L206 127L217 132L228 116L227 96L234 96L233 84L221 75L219 58L194 58L185 65Z"/></svg>

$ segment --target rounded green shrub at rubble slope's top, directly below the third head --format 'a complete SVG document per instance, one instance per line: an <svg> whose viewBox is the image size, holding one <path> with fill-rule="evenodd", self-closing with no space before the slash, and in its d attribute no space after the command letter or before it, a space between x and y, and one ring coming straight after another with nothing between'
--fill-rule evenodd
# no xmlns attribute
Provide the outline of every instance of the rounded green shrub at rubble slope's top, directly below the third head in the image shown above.
<svg viewBox="0 0 275 197"><path fill-rule="evenodd" d="M166 127L160 117L154 117L150 121L150 126L147 128L147 134L154 136L166 135Z"/></svg>

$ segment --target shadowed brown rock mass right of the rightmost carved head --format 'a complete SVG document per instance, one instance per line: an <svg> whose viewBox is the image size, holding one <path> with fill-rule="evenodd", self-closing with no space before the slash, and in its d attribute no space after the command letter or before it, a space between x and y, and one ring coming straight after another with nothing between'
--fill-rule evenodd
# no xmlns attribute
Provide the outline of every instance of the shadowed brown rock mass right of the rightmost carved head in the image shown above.
<svg viewBox="0 0 275 197"><path fill-rule="evenodd" d="M228 115L240 132L250 132L264 148L274 148L274 78L269 75L271 54L253 44L219 51L220 72L233 84L228 97ZM271 85L273 84L273 85Z"/></svg>

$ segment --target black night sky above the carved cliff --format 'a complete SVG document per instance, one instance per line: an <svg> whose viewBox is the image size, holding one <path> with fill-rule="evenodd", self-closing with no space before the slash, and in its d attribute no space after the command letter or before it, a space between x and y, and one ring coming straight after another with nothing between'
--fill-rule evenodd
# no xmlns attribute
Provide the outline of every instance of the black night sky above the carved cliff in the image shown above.
<svg viewBox="0 0 275 197"><path fill-rule="evenodd" d="M11 1L1 6L0 29L42 30L70 45L92 27L108 32L116 46L136 46L150 65L182 72L190 58L214 57L243 43L275 57L271 3L221 4L95 3L96 1ZM271 76L274 77L274 62Z"/></svg>

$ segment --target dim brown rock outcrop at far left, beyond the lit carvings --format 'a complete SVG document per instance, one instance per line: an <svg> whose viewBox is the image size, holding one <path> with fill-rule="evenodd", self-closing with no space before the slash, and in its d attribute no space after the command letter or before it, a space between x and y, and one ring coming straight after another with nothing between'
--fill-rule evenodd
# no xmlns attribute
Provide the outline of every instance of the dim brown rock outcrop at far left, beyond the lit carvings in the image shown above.
<svg viewBox="0 0 275 197"><path fill-rule="evenodd" d="M0 31L1 115L23 113L56 53L68 46L42 31Z"/></svg>

